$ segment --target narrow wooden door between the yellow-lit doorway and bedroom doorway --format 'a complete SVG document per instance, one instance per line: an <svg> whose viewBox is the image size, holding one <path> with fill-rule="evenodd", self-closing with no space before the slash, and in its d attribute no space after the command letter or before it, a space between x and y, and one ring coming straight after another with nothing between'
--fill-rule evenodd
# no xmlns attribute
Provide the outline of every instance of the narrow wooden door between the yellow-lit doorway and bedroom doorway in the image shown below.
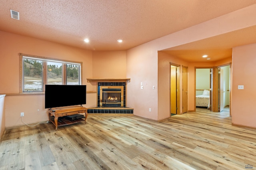
<svg viewBox="0 0 256 170"><path fill-rule="evenodd" d="M188 112L188 67L182 66L182 113Z"/></svg>

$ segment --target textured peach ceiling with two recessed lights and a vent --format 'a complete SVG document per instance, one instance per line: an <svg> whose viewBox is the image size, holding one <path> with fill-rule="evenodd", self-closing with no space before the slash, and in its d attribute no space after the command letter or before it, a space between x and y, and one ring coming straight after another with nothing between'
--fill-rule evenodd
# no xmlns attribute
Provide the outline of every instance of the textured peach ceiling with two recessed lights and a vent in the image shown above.
<svg viewBox="0 0 256 170"><path fill-rule="evenodd" d="M105 51L136 47L256 4L256 0L0 0L0 4L1 31ZM20 20L10 17L10 9L20 12ZM85 43L85 38L90 43ZM206 42L208 50L217 51L214 42L221 38L225 36L169 50L195 61L186 58L185 52L205 50ZM232 46L221 47L222 53Z"/></svg>

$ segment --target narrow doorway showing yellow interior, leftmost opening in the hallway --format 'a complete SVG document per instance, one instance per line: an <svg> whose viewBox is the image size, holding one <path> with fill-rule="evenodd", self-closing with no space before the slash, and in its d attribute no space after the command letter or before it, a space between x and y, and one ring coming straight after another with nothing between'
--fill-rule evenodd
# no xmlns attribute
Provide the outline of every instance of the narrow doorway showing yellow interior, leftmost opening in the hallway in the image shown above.
<svg viewBox="0 0 256 170"><path fill-rule="evenodd" d="M170 63L170 116L179 114L179 68L180 65Z"/></svg>

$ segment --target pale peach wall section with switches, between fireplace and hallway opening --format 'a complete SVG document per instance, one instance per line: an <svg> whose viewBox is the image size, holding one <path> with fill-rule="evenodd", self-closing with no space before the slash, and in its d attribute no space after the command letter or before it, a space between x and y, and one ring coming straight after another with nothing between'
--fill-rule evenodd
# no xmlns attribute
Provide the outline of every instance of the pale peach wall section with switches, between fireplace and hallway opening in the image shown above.
<svg viewBox="0 0 256 170"><path fill-rule="evenodd" d="M153 120L158 120L157 55L155 44L146 43L128 50L126 61L127 77L131 78L127 84L127 106L134 108L134 115Z"/></svg>

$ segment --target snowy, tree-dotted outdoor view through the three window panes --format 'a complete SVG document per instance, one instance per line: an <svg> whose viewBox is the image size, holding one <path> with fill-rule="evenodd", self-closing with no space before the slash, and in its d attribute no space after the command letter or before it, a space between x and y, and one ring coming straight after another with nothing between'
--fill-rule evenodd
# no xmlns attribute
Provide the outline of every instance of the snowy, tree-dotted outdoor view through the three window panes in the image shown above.
<svg viewBox="0 0 256 170"><path fill-rule="evenodd" d="M45 71L45 74L47 74L47 82L45 82L45 84L80 84L79 64L23 59L23 92L43 91L44 62L46 62L47 65L47 69ZM66 64L65 67L63 67L64 64ZM65 74L63 74L63 68L66 68L64 70ZM66 82L64 82L63 76L66 76Z"/></svg>

